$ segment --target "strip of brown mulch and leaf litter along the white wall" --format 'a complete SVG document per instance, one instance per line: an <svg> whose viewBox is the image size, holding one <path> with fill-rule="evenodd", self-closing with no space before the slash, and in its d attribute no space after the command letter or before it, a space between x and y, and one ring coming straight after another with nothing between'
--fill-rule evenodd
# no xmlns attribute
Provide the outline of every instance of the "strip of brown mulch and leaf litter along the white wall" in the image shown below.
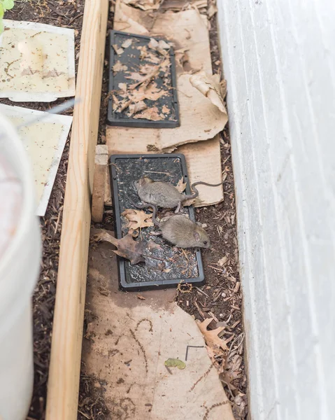
<svg viewBox="0 0 335 420"><path fill-rule="evenodd" d="M210 3L215 4L213 1ZM210 43L213 73L222 73L216 15L210 20ZM225 382L222 383L231 400L236 420L242 420L248 414L247 378L243 353L242 292L238 273L236 203L229 125L221 133L220 141L222 176L225 179L224 202L197 209L197 219L206 224L212 243L211 250L203 253L206 286L193 289L191 293L179 293L177 302L201 321L214 318L209 328L225 327L223 338L231 341L228 344L227 361L222 365L227 373ZM230 384L227 384L227 379Z"/></svg>

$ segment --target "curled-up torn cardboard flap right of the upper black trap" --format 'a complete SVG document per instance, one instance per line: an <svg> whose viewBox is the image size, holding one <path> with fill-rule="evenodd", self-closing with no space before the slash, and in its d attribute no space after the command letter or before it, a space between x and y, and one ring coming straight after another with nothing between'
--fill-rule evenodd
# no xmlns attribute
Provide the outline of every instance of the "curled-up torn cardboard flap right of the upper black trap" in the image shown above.
<svg viewBox="0 0 335 420"><path fill-rule="evenodd" d="M213 105L217 106L221 112L227 113L221 94L220 83L218 77L215 76L208 76L205 71L199 71L199 73L195 73L190 77L190 83L208 98Z"/></svg>

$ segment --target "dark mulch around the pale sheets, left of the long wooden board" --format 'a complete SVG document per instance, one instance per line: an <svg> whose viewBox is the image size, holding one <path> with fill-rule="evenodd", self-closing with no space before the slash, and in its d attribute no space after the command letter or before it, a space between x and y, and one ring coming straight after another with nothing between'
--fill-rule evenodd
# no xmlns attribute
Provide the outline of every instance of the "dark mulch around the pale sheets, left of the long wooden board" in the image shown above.
<svg viewBox="0 0 335 420"><path fill-rule="evenodd" d="M13 10L8 10L5 18L27 20L75 29L77 71L84 4L85 0L16 0ZM52 102L52 104L41 104L37 102L17 104L16 102L10 102L8 99L1 99L0 103L45 111L56 104L64 102L64 100L66 99L58 99L56 102ZM66 114L72 115L72 112L73 110L69 109L66 111ZM106 116L103 113L101 116L102 126L104 126L102 122L105 121L105 118ZM45 419L45 398L50 362L52 318L55 307L59 241L62 230L62 209L64 204L67 162L69 158L69 139L64 148L48 210L45 217L41 218L43 258L41 261L41 275L33 296L35 377L34 394L31 400L29 416L27 417L29 420ZM103 417L97 414L106 413L104 404L101 403L96 392L94 392L96 389L94 384L96 384L96 381L87 377L84 377L80 384L80 411L85 413L85 416L82 416L83 419L102 419Z"/></svg>

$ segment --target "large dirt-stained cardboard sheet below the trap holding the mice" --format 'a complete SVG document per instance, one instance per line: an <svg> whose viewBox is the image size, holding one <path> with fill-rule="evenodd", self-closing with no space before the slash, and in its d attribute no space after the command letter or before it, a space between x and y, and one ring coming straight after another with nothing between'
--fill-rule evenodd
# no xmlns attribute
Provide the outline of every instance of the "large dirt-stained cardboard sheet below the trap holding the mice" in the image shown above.
<svg viewBox="0 0 335 420"><path fill-rule="evenodd" d="M117 283L111 245L97 244L89 258L86 302L94 319L85 333L83 366L97 378L111 419L234 420L204 337L173 302L176 290L139 298ZM167 370L169 358L182 360L185 369Z"/></svg>

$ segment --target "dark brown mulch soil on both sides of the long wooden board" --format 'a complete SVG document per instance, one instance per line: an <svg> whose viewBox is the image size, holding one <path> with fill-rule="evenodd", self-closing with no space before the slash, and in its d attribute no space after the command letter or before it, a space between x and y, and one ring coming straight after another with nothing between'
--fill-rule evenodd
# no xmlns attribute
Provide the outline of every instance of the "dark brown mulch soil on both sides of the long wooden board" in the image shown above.
<svg viewBox="0 0 335 420"><path fill-rule="evenodd" d="M16 0L13 10L6 12L5 18L13 20L28 20L46 23L60 27L75 29L76 35L76 69L78 66L80 32L83 22L85 0ZM210 5L213 1L209 1ZM113 13L110 13L108 29L112 28ZM210 20L211 54L213 71L221 71L220 53L218 48L218 34L216 15ZM107 45L106 45L107 48ZM106 55L106 57L108 57ZM105 60L103 87L101 97L101 112L98 141L106 143L106 97L108 94L108 62ZM64 102L59 99L52 104L24 103L17 106L29 107L44 111L51 106ZM11 104L7 99L0 101ZM71 115L72 110L66 111ZM69 136L70 138L70 136ZM224 181L224 202L197 209L197 219L207 225L206 230L211 236L212 247L203 253L206 285L193 288L190 293L178 293L176 300L180 307L201 321L212 317L214 321L209 328L224 326L224 339L231 339L229 343L228 363L222 365L220 378L226 393L231 400L236 419L245 419L248 412L246 402L245 367L243 363L243 324L242 298L238 280L238 248L236 240L236 206L234 197L234 176L231 165L231 150L229 143L229 127L222 132L221 139L222 174ZM57 283L57 268L59 258L59 240L62 230L62 208L64 202L64 188L66 183L67 162L69 156L69 139L66 143L62 160L52 189L48 210L41 218L43 237L43 258L41 261L41 275L34 290L34 395L27 420L45 419L45 396L48 381L48 367L50 360L50 344L52 332L52 318L55 306L55 291ZM104 226L111 229L113 216L106 213ZM222 258L224 258L222 260ZM89 316L90 314L86 314ZM87 323L85 319L85 325ZM84 325L84 328L85 328ZM80 395L78 405L78 419L102 420L109 419L108 410L101 398L99 388L104 386L94 377L81 375Z"/></svg>

